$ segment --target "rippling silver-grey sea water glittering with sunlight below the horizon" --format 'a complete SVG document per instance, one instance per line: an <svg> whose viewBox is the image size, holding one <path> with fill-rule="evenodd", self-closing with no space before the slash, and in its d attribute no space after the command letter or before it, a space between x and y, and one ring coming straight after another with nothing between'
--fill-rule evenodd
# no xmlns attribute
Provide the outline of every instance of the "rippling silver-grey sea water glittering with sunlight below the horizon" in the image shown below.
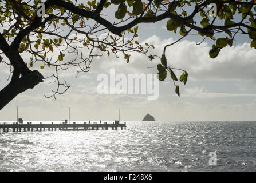
<svg viewBox="0 0 256 183"><path fill-rule="evenodd" d="M253 121L127 121L126 130L0 133L0 171L255 170Z"/></svg>

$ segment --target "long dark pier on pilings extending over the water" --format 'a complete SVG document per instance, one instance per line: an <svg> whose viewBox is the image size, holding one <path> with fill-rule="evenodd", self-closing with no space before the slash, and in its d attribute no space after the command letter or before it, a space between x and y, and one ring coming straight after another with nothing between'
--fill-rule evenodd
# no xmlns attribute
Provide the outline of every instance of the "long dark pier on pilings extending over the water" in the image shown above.
<svg viewBox="0 0 256 183"><path fill-rule="evenodd" d="M97 123L97 122L84 122L76 124L76 122L73 122L73 124L65 124L63 122L62 124L32 124L31 122L27 122L27 124L19 124L18 122L14 122L13 124L0 124L0 132L33 132L33 131L85 131L85 130L117 130L117 128L120 128L121 130L126 129L126 122L124 124L120 124L119 122L113 122L113 123Z"/></svg>

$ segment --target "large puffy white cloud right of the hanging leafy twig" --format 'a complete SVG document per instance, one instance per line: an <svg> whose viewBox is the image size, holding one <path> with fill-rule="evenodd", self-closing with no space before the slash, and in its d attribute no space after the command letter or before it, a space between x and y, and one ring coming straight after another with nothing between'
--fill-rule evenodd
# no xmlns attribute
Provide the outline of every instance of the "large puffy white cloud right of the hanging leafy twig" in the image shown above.
<svg viewBox="0 0 256 183"><path fill-rule="evenodd" d="M209 57L210 49L207 43L182 41L168 48L167 59L172 66L186 69L194 79L255 80L256 51L249 43L226 47L215 59Z"/></svg>

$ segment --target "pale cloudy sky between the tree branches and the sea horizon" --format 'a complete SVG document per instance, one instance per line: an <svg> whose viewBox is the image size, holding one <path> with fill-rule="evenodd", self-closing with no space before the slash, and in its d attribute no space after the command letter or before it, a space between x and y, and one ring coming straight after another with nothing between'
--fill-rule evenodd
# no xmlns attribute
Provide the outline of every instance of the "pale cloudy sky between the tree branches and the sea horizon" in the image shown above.
<svg viewBox="0 0 256 183"><path fill-rule="evenodd" d="M164 45L174 42L179 36L166 30L166 21L139 27L139 41L152 43L155 49L150 54L161 55ZM217 58L211 59L208 51L212 41L202 41L198 35L188 36L167 50L168 65L187 70L187 85L179 83L180 97L176 96L170 78L159 82L159 98L149 101L147 94L98 94L99 74L109 75L109 69L125 75L131 73L156 74L160 61L148 61L141 54L132 54L129 63L123 57L117 59L107 55L93 60L88 73L79 74L70 67L60 74L72 86L62 96L45 98L54 85L49 80L33 90L19 94L0 111L0 121L15 121L16 106L19 117L25 121L64 120L71 107L71 120L115 120L118 108L121 120L142 120L149 113L156 120L255 120L256 119L256 50L250 48L246 36L236 38L233 47L226 47ZM66 53L65 59L71 58ZM29 60L29 55L23 55ZM36 68L37 69L37 68ZM38 67L40 70L40 68ZM0 89L6 86L9 68L0 64ZM51 69L40 70L46 77ZM177 74L181 74L177 72Z"/></svg>

